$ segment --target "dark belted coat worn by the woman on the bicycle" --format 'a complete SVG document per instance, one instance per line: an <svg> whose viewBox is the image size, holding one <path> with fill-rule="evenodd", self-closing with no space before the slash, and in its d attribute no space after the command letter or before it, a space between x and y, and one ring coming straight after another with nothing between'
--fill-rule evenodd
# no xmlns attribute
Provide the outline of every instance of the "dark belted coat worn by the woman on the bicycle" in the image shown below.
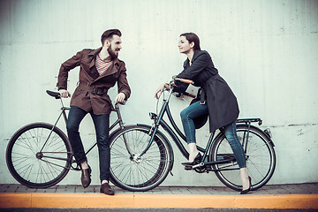
<svg viewBox="0 0 318 212"><path fill-rule="evenodd" d="M239 104L226 81L220 77L207 51L195 50L192 64L185 61L178 78L192 79L201 87L202 97L208 103L210 133L229 125L239 117Z"/></svg>

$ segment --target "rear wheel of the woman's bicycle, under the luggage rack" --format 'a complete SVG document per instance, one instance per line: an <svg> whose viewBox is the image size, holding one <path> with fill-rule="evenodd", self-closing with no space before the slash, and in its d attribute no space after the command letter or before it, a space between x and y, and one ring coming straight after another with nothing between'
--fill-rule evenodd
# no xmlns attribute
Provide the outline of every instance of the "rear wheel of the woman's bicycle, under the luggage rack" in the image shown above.
<svg viewBox="0 0 318 212"><path fill-rule="evenodd" d="M237 125L237 133L241 143L247 129L248 125ZM216 159L220 159L223 155L235 158L224 134L216 138L212 147L212 154L210 154L210 160L216 161ZM238 163L215 164L212 167L216 170L216 177L219 178L223 185L235 191L242 190ZM257 190L261 186L266 185L273 176L276 167L276 154L272 141L267 134L253 125L250 126L248 136L246 167L248 175L252 178L251 190ZM231 168L236 170L224 170Z"/></svg>

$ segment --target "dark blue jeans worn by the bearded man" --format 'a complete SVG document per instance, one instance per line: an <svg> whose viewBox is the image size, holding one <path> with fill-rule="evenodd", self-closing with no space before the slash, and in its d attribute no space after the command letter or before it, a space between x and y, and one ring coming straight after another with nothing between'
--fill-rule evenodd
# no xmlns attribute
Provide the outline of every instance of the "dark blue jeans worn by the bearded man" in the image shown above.
<svg viewBox="0 0 318 212"><path fill-rule="evenodd" d="M71 106L67 120L67 134L72 146L72 152L76 163L80 164L87 161L83 143L79 136L79 124L87 115L87 111L81 110L78 107ZM95 115L90 112L95 125L96 140L99 154L100 179L110 179L110 140L109 127L110 115Z"/></svg>

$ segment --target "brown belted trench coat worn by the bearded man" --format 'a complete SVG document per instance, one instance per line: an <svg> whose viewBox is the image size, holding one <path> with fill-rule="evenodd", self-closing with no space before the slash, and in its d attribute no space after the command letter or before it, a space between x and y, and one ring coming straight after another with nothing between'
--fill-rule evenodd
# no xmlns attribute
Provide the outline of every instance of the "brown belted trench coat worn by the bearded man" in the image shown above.
<svg viewBox="0 0 318 212"><path fill-rule="evenodd" d="M107 92L110 87L115 86L116 82L118 93L124 93L125 99L131 95L123 61L116 58L110 68L102 75L97 72L95 58L101 49L79 51L61 65L57 79L58 90L67 89L68 72L76 66L80 66L79 85L72 95L70 104L87 112L93 111L95 115L110 114L111 101Z"/></svg>

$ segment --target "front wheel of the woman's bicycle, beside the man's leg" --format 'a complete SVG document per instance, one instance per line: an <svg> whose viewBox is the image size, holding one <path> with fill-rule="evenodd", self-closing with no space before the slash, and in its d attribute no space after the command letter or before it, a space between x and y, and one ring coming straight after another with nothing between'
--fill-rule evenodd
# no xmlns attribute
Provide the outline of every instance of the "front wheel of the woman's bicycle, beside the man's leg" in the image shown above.
<svg viewBox="0 0 318 212"><path fill-rule="evenodd" d="M160 133L148 151L138 155L147 147L151 137L150 127L132 125L110 138L110 181L131 192L146 192L159 186L170 171L172 155L170 145Z"/></svg>

